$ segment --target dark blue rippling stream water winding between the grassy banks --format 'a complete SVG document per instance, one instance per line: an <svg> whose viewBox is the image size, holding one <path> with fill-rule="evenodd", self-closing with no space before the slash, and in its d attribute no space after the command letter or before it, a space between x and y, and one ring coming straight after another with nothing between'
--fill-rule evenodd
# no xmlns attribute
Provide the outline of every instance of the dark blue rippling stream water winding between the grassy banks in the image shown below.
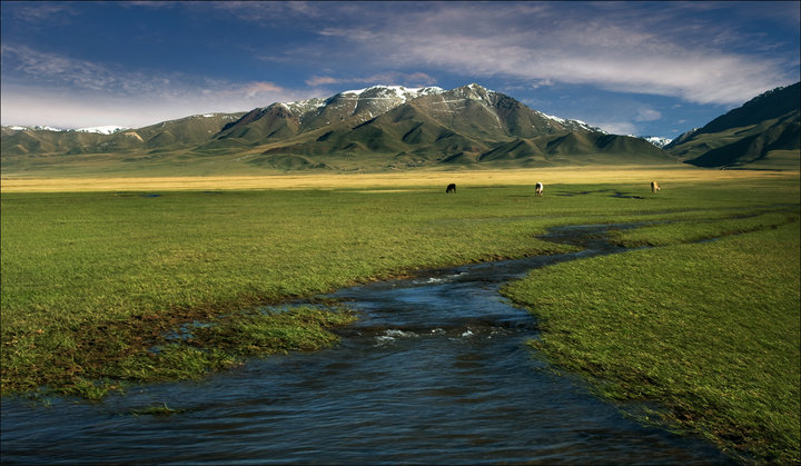
<svg viewBox="0 0 801 466"><path fill-rule="evenodd" d="M546 264L613 252L599 231L552 234L590 248L577 254L333 294L362 317L335 348L101 403L3 399L2 463L732 463L699 439L641 426L524 346L536 321L498 287ZM181 412L131 414L162 404Z"/></svg>

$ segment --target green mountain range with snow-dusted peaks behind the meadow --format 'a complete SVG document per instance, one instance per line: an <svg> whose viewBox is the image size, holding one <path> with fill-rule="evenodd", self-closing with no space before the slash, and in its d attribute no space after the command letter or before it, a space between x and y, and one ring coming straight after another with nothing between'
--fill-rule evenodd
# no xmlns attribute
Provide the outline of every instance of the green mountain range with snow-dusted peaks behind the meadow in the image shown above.
<svg viewBox="0 0 801 466"><path fill-rule="evenodd" d="M2 169L4 175L188 175L680 161L792 168L799 165L798 87L767 92L664 149L657 147L664 140L654 138L652 143L610 135L530 109L475 83L452 90L374 86L327 99L197 115L138 129L2 127Z"/></svg>

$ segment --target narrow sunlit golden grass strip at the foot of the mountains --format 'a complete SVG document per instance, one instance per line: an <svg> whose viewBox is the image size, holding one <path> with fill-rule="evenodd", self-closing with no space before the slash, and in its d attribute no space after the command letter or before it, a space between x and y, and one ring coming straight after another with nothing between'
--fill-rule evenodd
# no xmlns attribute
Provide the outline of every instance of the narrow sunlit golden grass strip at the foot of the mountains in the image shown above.
<svg viewBox="0 0 801 466"><path fill-rule="evenodd" d="M250 189L362 189L419 187L444 189L457 186L637 182L661 185L699 180L795 178L799 171L711 170L689 166L659 167L560 167L493 170L415 170L380 173L303 173L208 177L131 178L24 178L3 177L2 192L150 191L150 190L250 190Z"/></svg>

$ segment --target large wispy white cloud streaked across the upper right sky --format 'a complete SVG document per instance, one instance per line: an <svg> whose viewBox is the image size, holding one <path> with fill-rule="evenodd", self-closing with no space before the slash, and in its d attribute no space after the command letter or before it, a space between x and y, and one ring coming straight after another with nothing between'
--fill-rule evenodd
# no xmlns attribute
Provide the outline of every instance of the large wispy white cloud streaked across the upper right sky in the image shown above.
<svg viewBox="0 0 801 466"><path fill-rule="evenodd" d="M741 103L798 79L789 71L797 63L780 57L715 47L736 36L689 20L682 6L684 16L665 8L644 19L642 11L629 18L630 6L435 3L383 18L380 27L365 12L319 33L330 43L332 60L357 49L359 59L384 67L425 63L464 75L592 85L699 103Z"/></svg>

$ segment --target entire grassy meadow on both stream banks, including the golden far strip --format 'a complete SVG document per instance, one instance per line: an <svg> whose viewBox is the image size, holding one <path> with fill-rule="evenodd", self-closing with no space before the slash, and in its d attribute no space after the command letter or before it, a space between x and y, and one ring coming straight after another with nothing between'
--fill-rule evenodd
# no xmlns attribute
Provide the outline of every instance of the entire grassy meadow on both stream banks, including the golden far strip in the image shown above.
<svg viewBox="0 0 801 466"><path fill-rule="evenodd" d="M505 288L541 320L535 354L606 397L656 401L678 428L798 462L799 185L798 172L631 167L3 179L2 394L98 398L314 350L357 316L260 306L571 250L537 238L554 226L637 221L613 240L656 247Z"/></svg>

